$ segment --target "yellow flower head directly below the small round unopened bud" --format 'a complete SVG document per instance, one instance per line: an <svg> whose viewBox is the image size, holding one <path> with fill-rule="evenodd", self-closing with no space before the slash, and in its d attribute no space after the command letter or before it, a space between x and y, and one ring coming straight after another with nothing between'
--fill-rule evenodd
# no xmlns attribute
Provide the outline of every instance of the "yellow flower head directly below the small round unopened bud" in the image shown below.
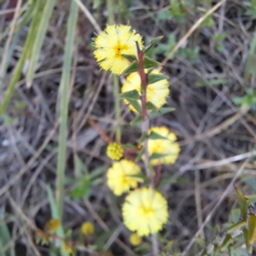
<svg viewBox="0 0 256 256"><path fill-rule="evenodd" d="M125 191L136 188L137 183L142 183L143 178L135 177L140 174L141 168L130 160L120 160L108 168L108 187L114 195L122 195Z"/></svg>

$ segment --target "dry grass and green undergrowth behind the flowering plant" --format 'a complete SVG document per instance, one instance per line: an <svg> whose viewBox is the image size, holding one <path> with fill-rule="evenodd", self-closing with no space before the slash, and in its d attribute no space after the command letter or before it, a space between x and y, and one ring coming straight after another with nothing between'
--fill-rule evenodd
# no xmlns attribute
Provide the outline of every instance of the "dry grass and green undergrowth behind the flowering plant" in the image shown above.
<svg viewBox="0 0 256 256"><path fill-rule="evenodd" d="M113 20L130 23L146 42L164 36L150 56L165 60L168 107L176 110L154 124L174 131L182 152L162 169L170 209L158 237L163 255L197 255L236 223L233 185L256 201L256 1L2 0L0 6L1 256L58 255L35 234L57 217L57 236L72 241L83 240L84 221L95 224L85 242L90 250L78 246L77 255L150 252L147 238L130 245L122 197L105 183L111 160L96 129L118 139L121 131L122 143L140 132L114 96L121 79L102 72L92 55L91 39ZM232 255L247 255L237 242Z"/></svg>

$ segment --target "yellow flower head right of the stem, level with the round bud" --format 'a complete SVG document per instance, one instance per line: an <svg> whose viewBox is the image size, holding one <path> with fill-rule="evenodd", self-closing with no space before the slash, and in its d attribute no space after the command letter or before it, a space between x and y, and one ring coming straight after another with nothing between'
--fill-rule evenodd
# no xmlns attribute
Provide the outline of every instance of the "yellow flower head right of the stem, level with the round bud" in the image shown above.
<svg viewBox="0 0 256 256"><path fill-rule="evenodd" d="M154 131L160 134L167 139L148 139L148 153L151 154L167 154L166 156L162 156L157 159L150 160L150 164L153 166L157 166L158 164L173 164L177 160L177 156L179 154L180 148L176 135L169 131L166 127L153 127L149 129L149 134L151 131Z"/></svg>

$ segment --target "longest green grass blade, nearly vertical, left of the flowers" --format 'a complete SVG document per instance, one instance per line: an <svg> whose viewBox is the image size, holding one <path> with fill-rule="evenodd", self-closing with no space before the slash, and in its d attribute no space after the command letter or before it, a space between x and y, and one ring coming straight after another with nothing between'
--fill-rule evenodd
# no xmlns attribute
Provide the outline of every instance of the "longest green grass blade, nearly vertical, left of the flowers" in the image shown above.
<svg viewBox="0 0 256 256"><path fill-rule="evenodd" d="M63 211L63 194L65 182L65 167L66 167L66 147L67 147L67 107L69 95L69 81L73 57L73 44L78 19L78 5L75 2L71 3L71 9L67 20L67 35L65 40L64 60L61 75L60 89L60 133L58 146L58 162L57 162L57 177L56 177L56 203L60 219Z"/></svg>

